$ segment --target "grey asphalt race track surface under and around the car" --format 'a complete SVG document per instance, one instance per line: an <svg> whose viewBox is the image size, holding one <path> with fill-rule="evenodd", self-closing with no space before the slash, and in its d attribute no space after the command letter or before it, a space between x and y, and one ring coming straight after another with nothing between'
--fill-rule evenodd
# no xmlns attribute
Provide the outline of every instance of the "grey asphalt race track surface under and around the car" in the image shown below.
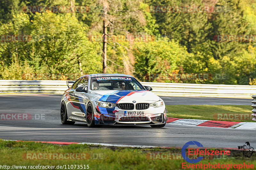
<svg viewBox="0 0 256 170"><path fill-rule="evenodd" d="M256 131L192 127L167 124L164 128L150 126L103 126L88 128L86 123L62 125L60 122L61 95L0 95L0 114L28 113L31 120L0 120L0 138L10 140L90 142L124 145L182 147L195 140L204 147L230 147L249 141L256 147ZM251 99L163 97L166 104L247 104ZM182 101L182 103L180 103ZM189 102L191 104L191 102ZM192 102L193 103L193 102ZM39 118L40 115L40 118ZM36 116L36 117L35 117Z"/></svg>

